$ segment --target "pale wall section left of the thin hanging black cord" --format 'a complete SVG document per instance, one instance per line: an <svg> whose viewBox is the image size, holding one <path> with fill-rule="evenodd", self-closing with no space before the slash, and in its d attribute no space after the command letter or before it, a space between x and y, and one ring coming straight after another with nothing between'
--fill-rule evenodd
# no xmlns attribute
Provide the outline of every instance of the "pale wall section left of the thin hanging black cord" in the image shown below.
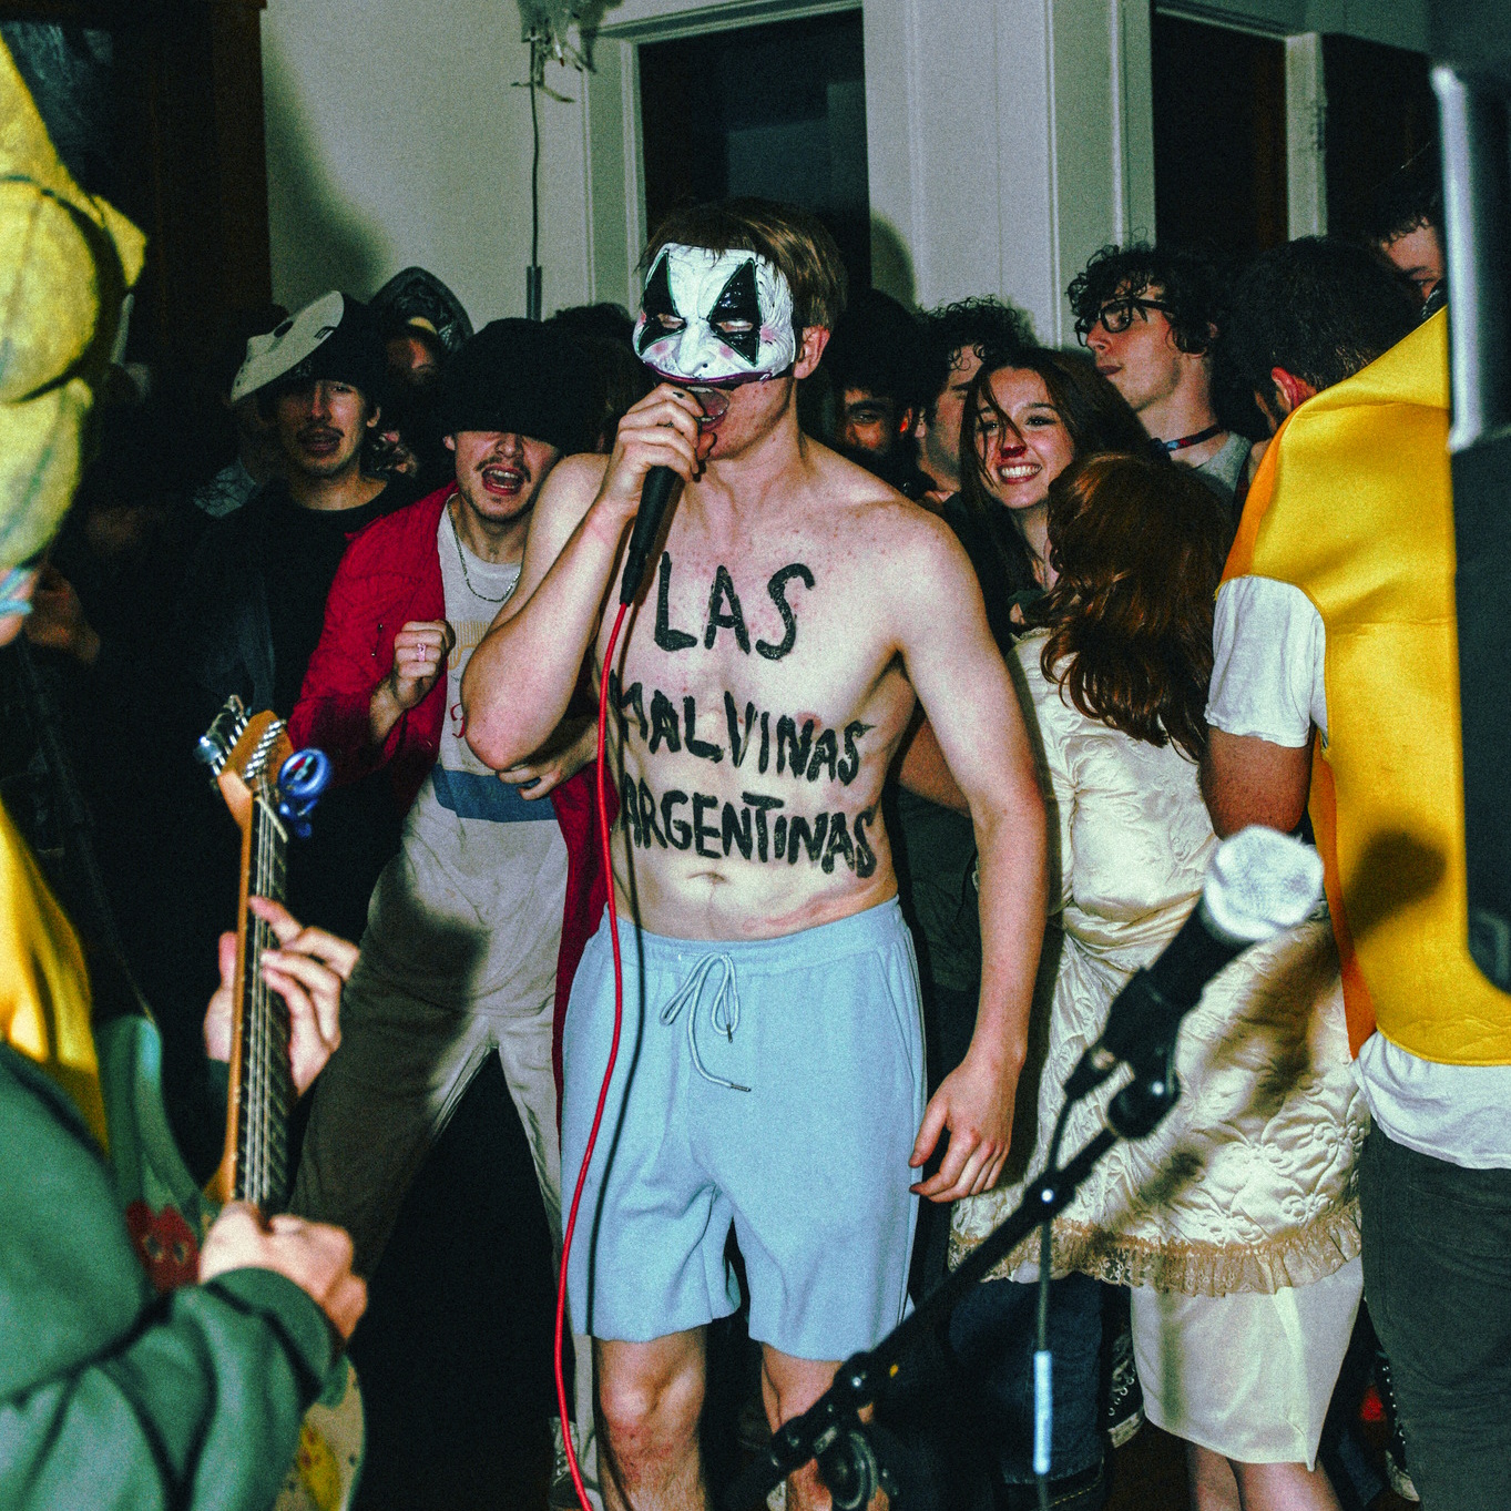
<svg viewBox="0 0 1511 1511"><path fill-rule="evenodd" d="M367 296L419 263L474 323L523 313L527 57L509 0L269 0L273 298Z"/></svg>

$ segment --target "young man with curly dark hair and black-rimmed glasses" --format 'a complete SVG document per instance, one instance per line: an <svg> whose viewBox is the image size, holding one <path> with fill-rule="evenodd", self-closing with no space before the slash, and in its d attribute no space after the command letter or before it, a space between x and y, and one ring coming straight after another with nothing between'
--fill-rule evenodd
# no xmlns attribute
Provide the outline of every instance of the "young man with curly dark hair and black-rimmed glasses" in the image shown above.
<svg viewBox="0 0 1511 1511"><path fill-rule="evenodd" d="M1194 252L1105 246L1067 290L1076 335L1144 429L1238 506L1253 474L1248 437L1212 402L1212 348L1225 313L1216 267Z"/></svg>

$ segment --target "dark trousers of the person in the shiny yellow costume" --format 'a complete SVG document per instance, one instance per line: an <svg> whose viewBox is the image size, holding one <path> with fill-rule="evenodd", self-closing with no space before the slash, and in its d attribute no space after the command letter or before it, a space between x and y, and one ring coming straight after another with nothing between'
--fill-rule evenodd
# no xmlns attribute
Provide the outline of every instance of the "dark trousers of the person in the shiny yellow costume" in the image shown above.
<svg viewBox="0 0 1511 1511"><path fill-rule="evenodd" d="M1461 1170L1372 1129L1358 1195L1364 1298L1422 1511L1505 1511L1511 1170Z"/></svg>

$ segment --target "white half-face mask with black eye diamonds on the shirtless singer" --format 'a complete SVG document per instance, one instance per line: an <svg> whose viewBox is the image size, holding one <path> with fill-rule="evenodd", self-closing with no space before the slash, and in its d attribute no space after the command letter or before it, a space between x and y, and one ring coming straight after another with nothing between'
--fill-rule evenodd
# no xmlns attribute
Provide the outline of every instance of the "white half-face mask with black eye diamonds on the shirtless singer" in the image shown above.
<svg viewBox="0 0 1511 1511"><path fill-rule="evenodd" d="M754 252L663 246L645 280L635 351L674 382L774 378L798 357L792 290Z"/></svg>

